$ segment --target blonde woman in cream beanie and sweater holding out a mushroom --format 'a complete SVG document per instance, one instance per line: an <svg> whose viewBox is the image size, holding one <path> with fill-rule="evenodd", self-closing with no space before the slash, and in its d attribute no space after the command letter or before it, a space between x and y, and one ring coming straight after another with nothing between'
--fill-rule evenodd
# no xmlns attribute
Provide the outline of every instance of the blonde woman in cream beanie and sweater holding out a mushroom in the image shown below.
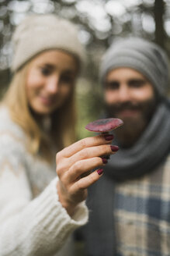
<svg viewBox="0 0 170 256"><path fill-rule="evenodd" d="M116 148L108 135L72 144L83 59L75 26L29 16L12 41L13 79L0 108L0 255L68 256L68 236L88 220L87 187L106 164L100 156Z"/></svg>

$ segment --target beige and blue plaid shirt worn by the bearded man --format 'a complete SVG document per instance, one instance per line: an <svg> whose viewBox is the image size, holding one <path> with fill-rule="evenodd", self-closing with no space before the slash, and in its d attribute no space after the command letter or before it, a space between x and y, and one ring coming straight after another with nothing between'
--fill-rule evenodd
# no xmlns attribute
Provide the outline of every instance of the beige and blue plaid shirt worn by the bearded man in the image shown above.
<svg viewBox="0 0 170 256"><path fill-rule="evenodd" d="M170 255L170 156L154 172L116 184L117 256Z"/></svg>

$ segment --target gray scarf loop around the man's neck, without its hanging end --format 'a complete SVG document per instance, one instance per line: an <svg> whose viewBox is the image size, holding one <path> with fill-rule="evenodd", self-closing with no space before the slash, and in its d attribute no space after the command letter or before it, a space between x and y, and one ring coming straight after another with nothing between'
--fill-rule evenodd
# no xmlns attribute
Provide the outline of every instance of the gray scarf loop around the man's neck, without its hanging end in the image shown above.
<svg viewBox="0 0 170 256"><path fill-rule="evenodd" d="M170 149L170 101L158 106L151 123L132 148L120 149L106 165L106 175L113 180L137 178L151 172L168 155ZM116 140L114 144L119 144Z"/></svg>

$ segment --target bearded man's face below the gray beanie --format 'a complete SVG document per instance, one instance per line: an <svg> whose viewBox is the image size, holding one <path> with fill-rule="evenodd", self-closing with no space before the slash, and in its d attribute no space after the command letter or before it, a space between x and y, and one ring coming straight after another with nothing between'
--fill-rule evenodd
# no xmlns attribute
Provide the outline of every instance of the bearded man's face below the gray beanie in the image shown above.
<svg viewBox="0 0 170 256"><path fill-rule="evenodd" d="M105 80L105 102L109 117L123 119L124 125L115 130L120 144L132 146L156 108L153 86L134 69L113 69Z"/></svg>

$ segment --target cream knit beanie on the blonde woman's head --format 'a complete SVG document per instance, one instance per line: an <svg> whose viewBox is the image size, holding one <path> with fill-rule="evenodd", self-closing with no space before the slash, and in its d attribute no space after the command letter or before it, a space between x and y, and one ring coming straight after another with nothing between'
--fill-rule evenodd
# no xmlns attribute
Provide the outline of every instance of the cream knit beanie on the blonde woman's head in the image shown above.
<svg viewBox="0 0 170 256"><path fill-rule="evenodd" d="M61 49L85 59L84 48L78 41L78 30L68 20L54 14L30 15L16 27L12 37L12 71L17 71L35 55L50 49Z"/></svg>

